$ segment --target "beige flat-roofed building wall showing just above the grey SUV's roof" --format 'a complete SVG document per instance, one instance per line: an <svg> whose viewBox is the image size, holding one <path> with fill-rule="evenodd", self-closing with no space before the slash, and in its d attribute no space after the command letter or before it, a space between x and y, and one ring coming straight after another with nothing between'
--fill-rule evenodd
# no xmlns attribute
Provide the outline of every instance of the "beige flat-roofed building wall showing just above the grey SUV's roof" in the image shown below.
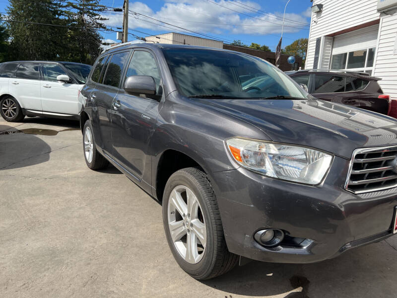
<svg viewBox="0 0 397 298"><path fill-rule="evenodd" d="M164 44L182 44L222 49L223 42L180 33L165 33L146 37L146 41Z"/></svg>

